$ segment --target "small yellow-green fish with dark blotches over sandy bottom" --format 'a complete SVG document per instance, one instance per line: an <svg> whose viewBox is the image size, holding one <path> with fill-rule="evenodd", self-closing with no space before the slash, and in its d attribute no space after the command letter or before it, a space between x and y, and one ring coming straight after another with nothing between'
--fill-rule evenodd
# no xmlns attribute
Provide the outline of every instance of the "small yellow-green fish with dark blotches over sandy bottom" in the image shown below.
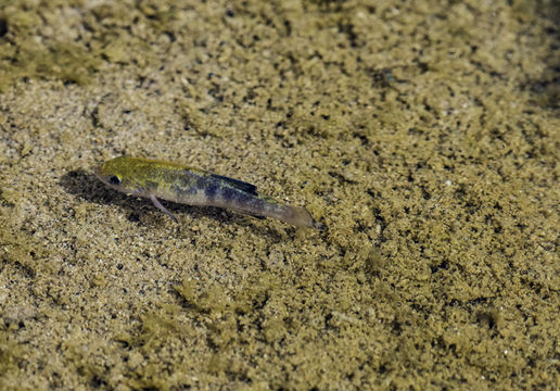
<svg viewBox="0 0 560 391"><path fill-rule="evenodd" d="M178 163L120 156L99 166L96 176L115 190L149 198L175 222L177 218L160 200L222 207L259 218L272 217L296 227L324 228L306 209L262 195L255 185Z"/></svg>

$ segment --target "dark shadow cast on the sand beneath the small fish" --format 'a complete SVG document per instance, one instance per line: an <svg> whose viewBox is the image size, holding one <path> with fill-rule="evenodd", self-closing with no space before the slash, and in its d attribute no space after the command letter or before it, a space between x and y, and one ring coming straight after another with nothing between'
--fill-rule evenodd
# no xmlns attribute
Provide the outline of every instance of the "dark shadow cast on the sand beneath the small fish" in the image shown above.
<svg viewBox="0 0 560 391"><path fill-rule="evenodd" d="M149 199L129 197L120 191L113 190L102 184L93 174L85 169L74 169L64 174L59 184L68 193L84 201L101 205L117 205L119 209L126 211L125 213L128 216L128 220L133 223L140 223L140 214L142 213L153 213L162 219L169 218L158 211ZM180 216L181 213L188 213L192 215L193 218L206 216L219 220L220 224L242 225L252 227L252 229L263 230L262 234L264 235L281 237L281 234L273 228L254 225L253 222L257 220L257 218L249 215L231 213L213 206L191 206L165 200L162 200L162 203L176 216Z"/></svg>

